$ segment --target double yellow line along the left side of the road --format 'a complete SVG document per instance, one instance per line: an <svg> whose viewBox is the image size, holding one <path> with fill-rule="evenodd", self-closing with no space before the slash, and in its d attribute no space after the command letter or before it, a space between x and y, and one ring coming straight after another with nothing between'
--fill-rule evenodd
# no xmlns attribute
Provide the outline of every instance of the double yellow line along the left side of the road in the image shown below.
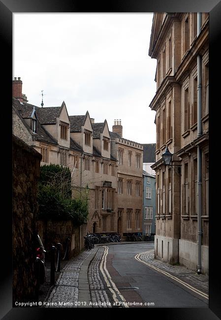
<svg viewBox="0 0 221 320"><path fill-rule="evenodd" d="M101 263L100 263L100 271L104 277L104 280L107 284L107 288L111 291L114 301L118 304L119 299L117 295L121 298L122 301L126 302L125 298L121 294L121 292L116 287L115 283L111 279L111 276L107 270L106 262L107 262L107 255L108 255L108 247L103 246L104 248L104 255L102 256ZM124 305L125 308L129 308L127 305Z"/></svg>

